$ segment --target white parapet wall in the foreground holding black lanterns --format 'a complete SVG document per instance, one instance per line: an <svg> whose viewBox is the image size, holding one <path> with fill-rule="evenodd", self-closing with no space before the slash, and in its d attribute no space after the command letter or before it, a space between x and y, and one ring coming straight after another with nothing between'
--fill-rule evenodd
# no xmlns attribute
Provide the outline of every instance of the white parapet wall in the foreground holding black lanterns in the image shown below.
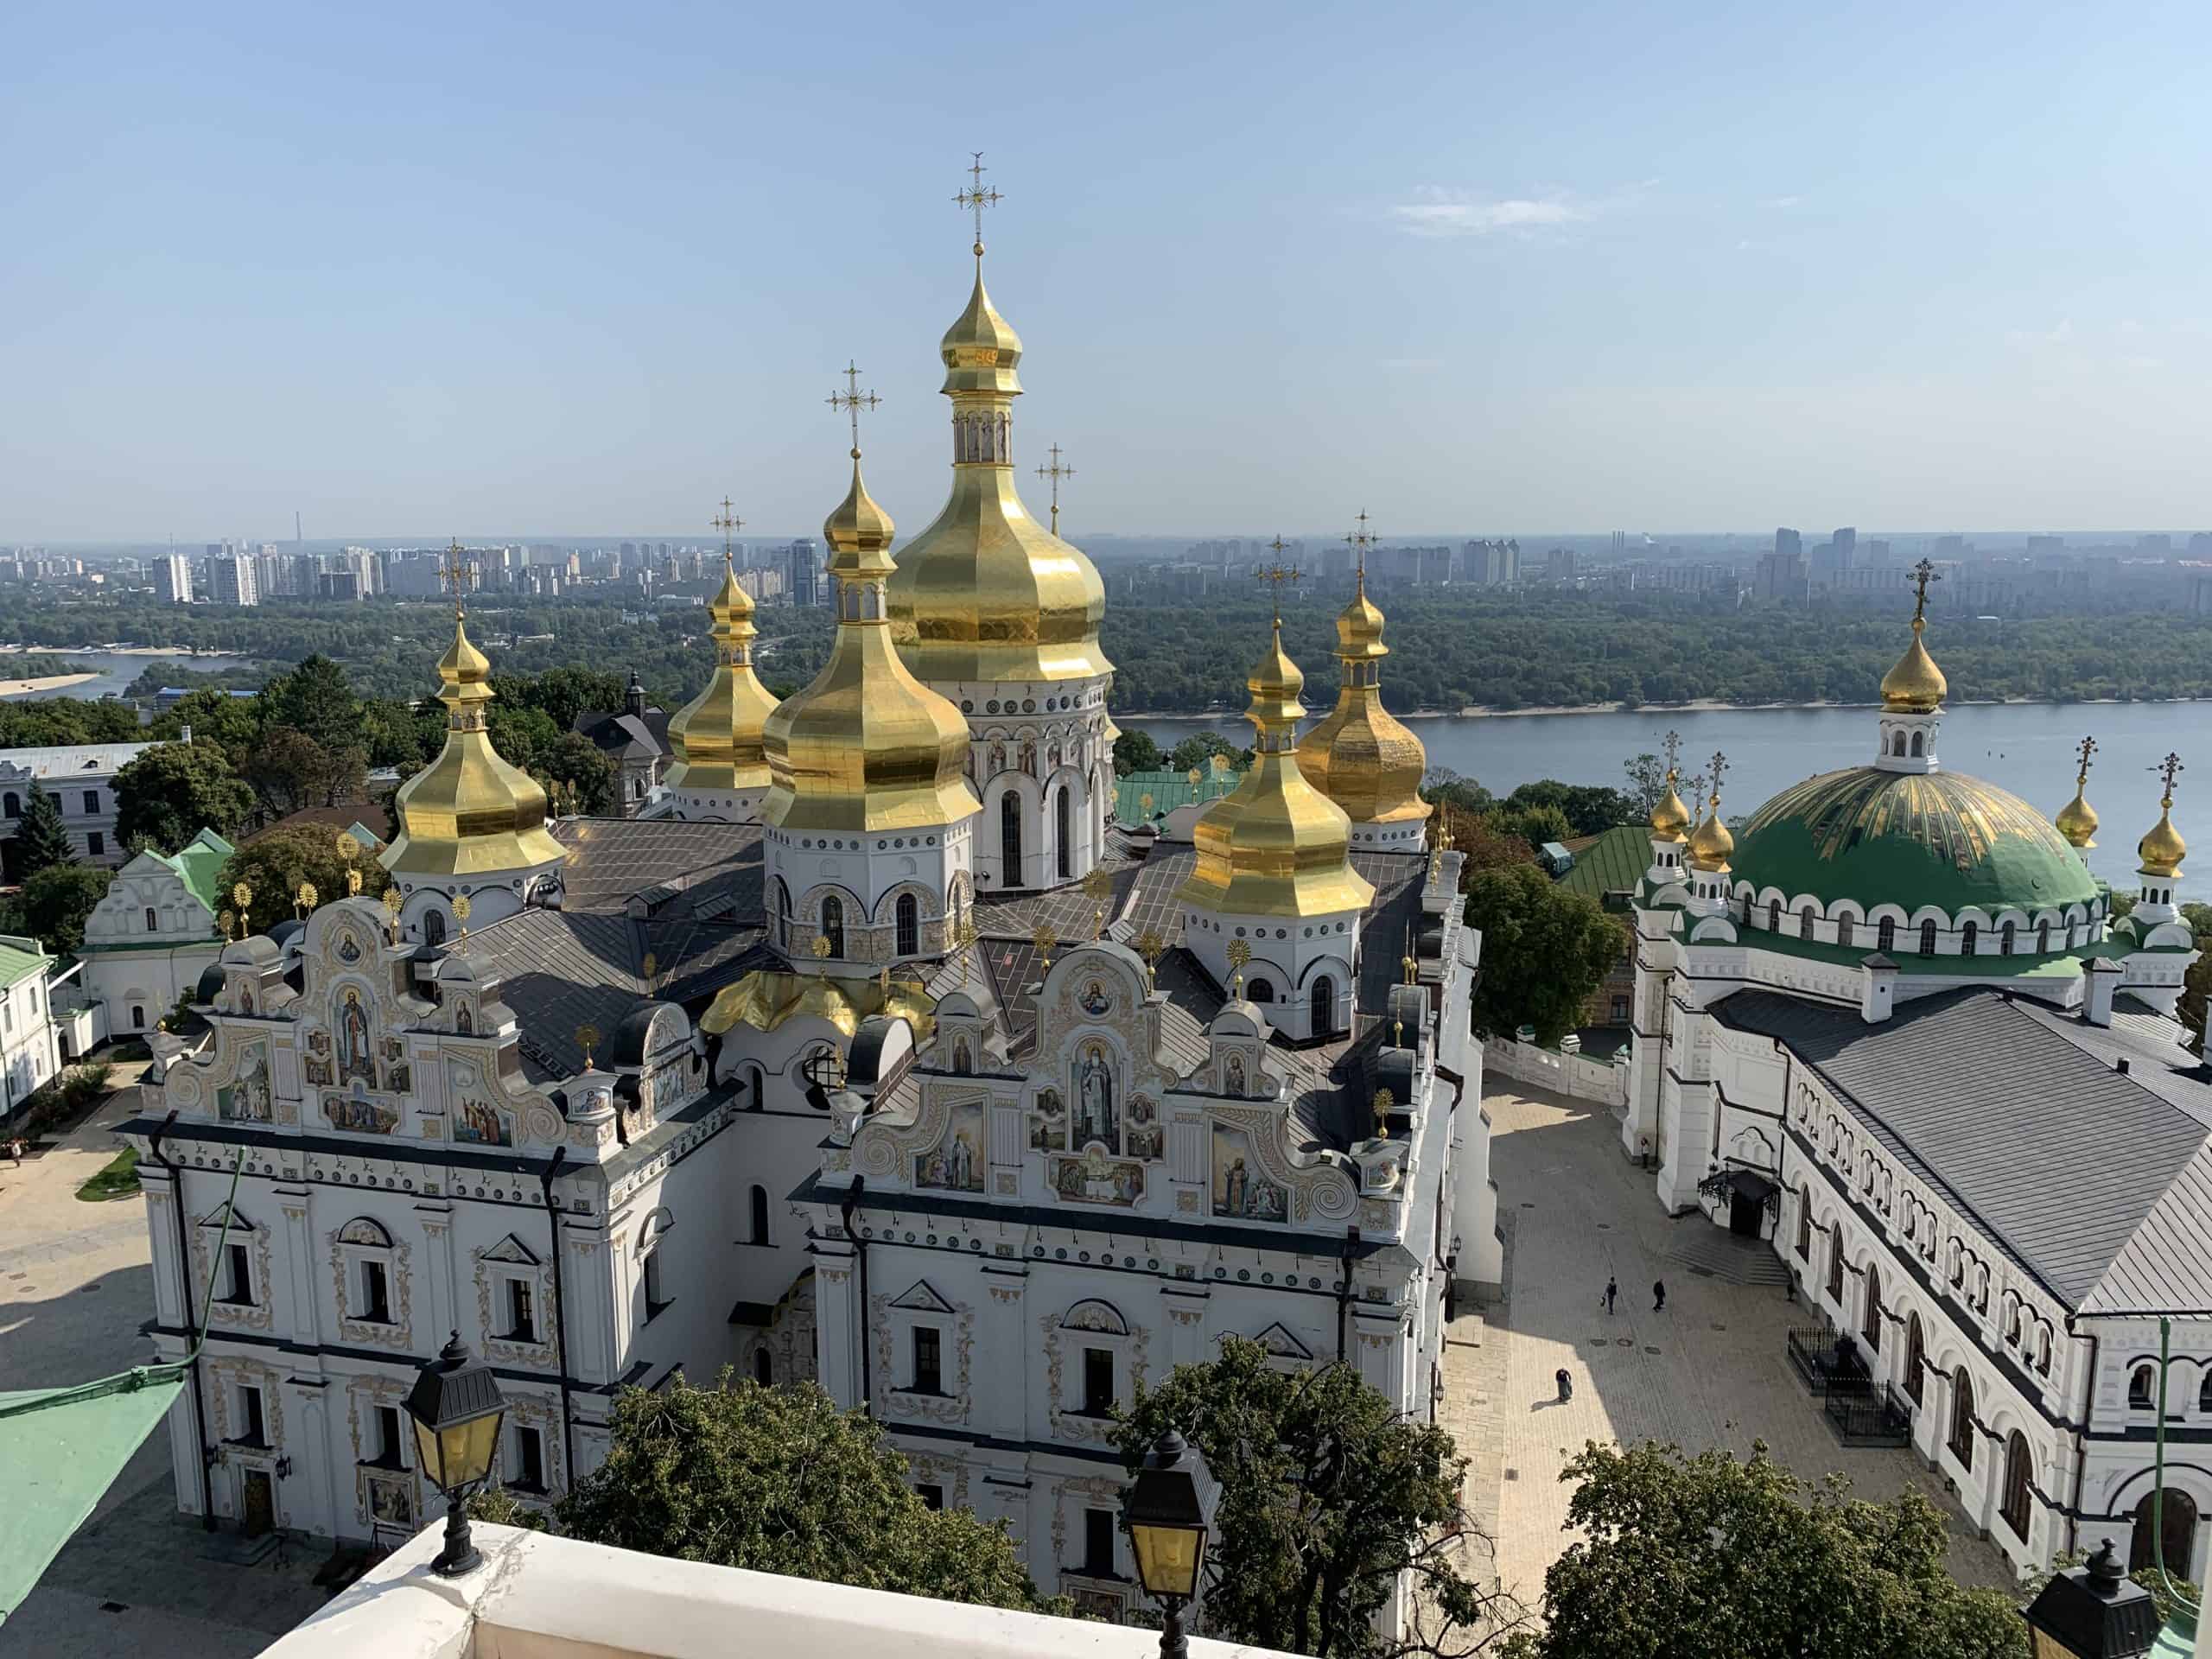
<svg viewBox="0 0 2212 1659"><path fill-rule="evenodd" d="M425 1526L263 1659L1141 1659L1157 1630L1046 1619L918 1595L701 1566L606 1544L482 1526L484 1564L429 1571L445 1522ZM1272 1648L1192 1639L1194 1659Z"/></svg>

